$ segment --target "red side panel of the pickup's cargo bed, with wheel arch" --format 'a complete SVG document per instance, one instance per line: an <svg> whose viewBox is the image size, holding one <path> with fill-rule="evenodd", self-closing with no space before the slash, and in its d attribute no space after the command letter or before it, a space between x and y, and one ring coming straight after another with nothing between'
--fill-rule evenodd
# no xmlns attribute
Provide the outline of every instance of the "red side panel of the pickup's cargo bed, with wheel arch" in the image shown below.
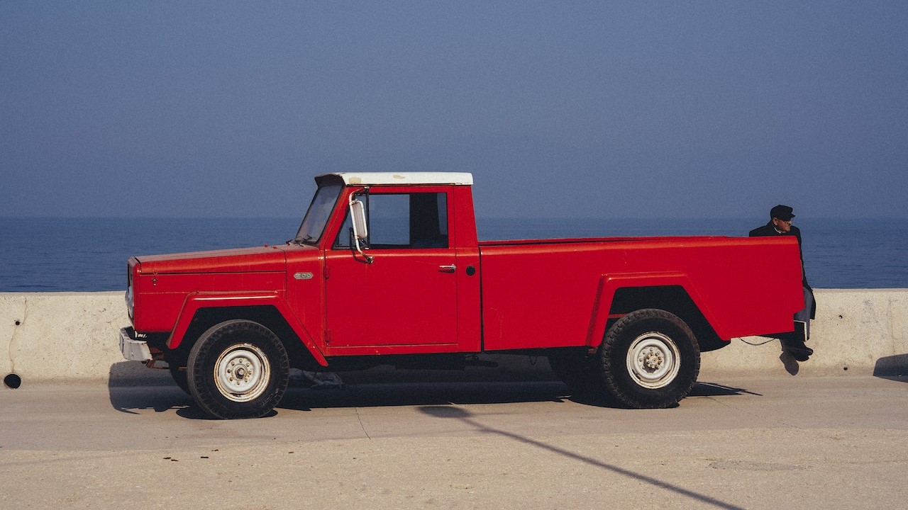
<svg viewBox="0 0 908 510"><path fill-rule="evenodd" d="M598 345L614 281L684 285L723 339L790 330L803 306L794 239L482 242L480 255L485 350Z"/></svg>

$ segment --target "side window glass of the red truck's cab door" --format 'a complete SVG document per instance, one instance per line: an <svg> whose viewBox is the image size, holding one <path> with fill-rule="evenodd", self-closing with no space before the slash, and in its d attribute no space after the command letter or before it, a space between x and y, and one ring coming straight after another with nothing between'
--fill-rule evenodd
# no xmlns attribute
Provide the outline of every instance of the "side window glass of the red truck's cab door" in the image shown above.
<svg viewBox="0 0 908 510"><path fill-rule="evenodd" d="M367 205L369 249L448 248L447 193L370 193L360 200ZM349 211L334 248L350 248Z"/></svg>

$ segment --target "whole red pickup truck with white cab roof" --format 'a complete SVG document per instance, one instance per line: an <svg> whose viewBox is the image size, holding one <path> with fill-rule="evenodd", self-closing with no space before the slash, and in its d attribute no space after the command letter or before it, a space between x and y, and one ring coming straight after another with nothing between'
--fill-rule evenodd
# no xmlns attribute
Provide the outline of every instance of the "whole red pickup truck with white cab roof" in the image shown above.
<svg viewBox="0 0 908 510"><path fill-rule="evenodd" d="M291 367L464 367L548 357L569 386L670 407L700 351L794 329L794 238L478 241L469 173L331 173L281 246L133 257L126 359L199 407L261 417Z"/></svg>

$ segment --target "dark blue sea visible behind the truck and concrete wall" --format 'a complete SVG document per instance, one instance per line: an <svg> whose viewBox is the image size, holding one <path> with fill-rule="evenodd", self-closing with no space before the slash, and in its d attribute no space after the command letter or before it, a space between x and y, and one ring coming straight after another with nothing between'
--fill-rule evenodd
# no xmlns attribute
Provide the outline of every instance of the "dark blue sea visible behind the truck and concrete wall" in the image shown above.
<svg viewBox="0 0 908 510"><path fill-rule="evenodd" d="M480 240L746 236L759 219L480 218ZM126 287L126 260L282 244L294 218L0 218L0 291ZM804 267L818 289L908 288L908 220L801 219Z"/></svg>

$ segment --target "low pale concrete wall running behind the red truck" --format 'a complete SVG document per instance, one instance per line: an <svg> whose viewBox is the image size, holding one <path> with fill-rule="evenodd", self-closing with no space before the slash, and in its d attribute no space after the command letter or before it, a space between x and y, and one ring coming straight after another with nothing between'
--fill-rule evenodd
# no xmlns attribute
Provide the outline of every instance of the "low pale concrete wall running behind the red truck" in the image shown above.
<svg viewBox="0 0 908 510"><path fill-rule="evenodd" d="M808 344L815 354L809 361L780 356L776 340L735 338L730 346L703 354L700 379L908 374L908 289L821 289L816 301ZM169 381L166 371L123 360L117 338L128 325L123 292L0 293L0 377L6 387L18 381ZM548 370L546 363L531 365L526 357L492 358L510 373Z"/></svg>

